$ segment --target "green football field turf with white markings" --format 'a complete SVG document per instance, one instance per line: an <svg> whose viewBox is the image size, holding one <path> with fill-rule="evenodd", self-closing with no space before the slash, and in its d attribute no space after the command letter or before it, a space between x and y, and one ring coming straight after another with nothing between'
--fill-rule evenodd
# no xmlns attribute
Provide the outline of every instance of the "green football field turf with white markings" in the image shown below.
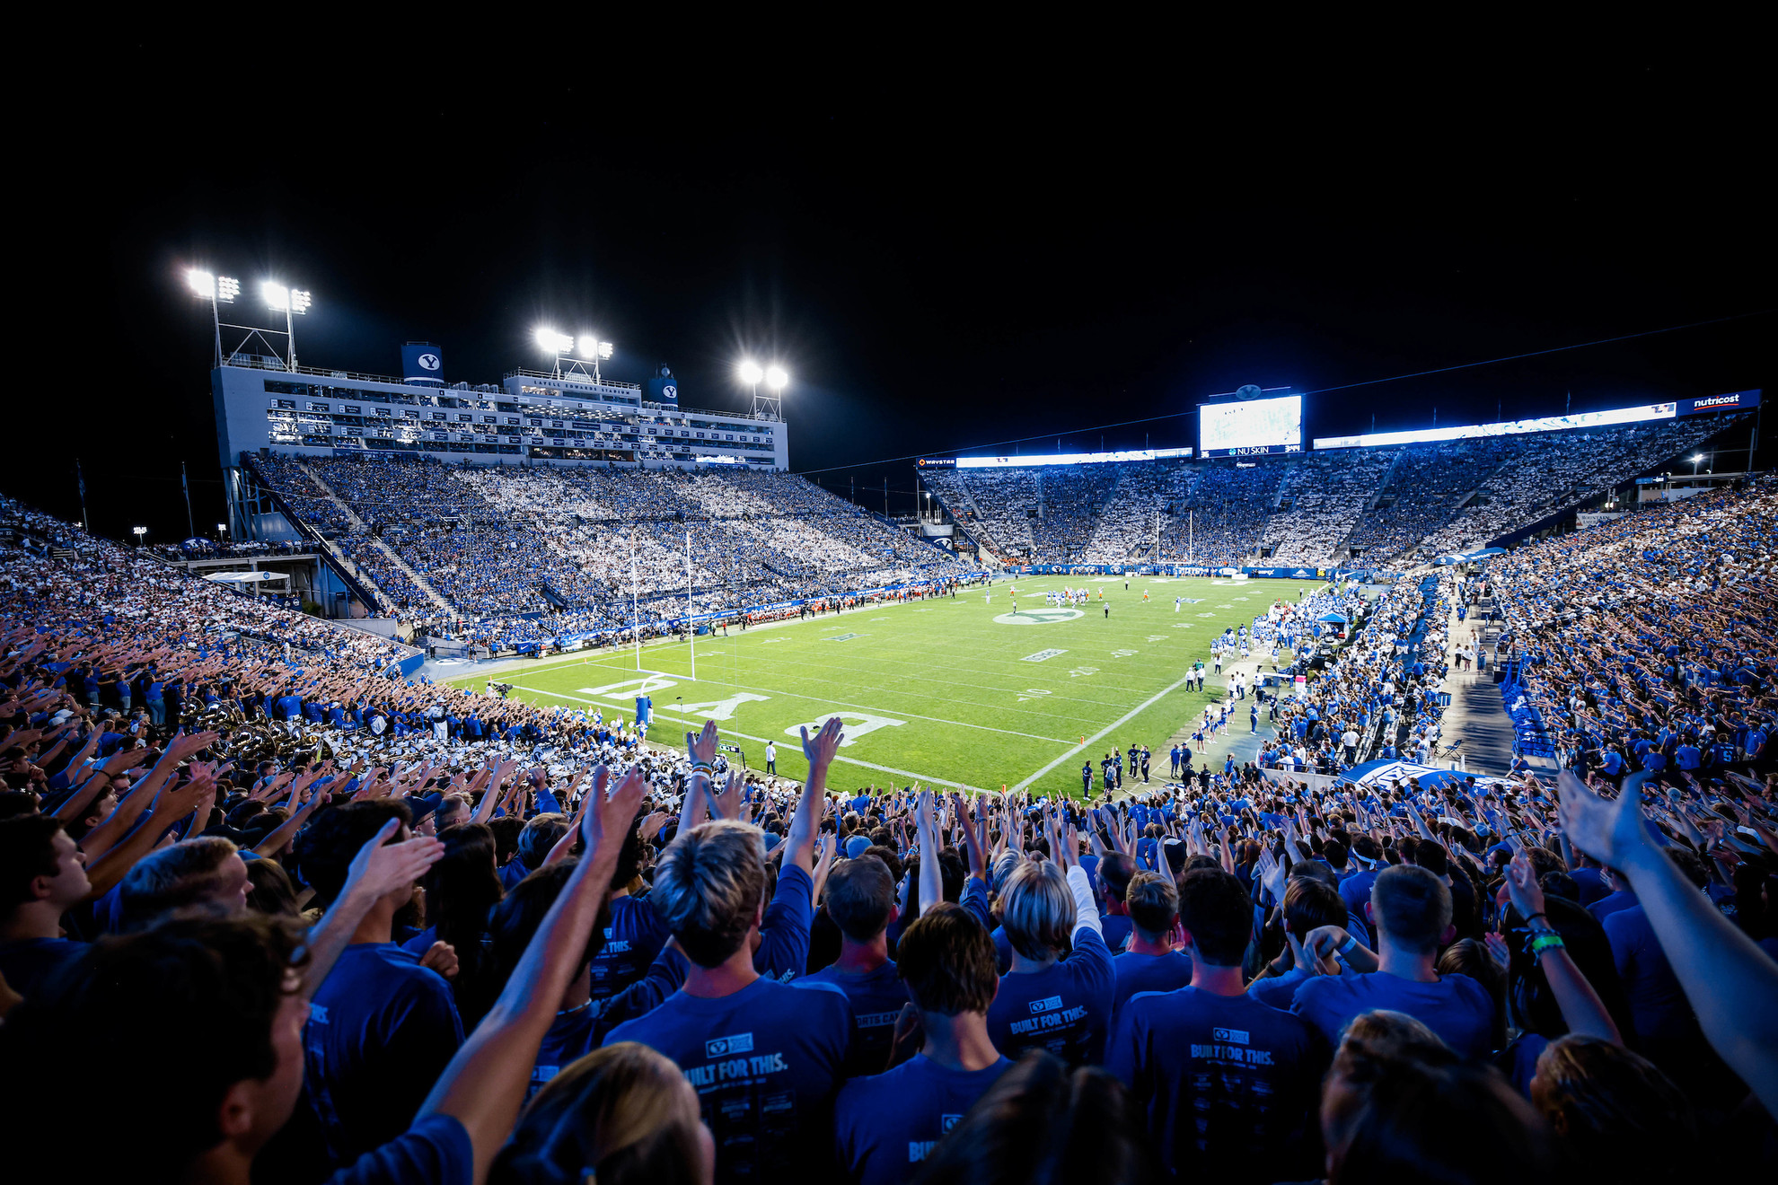
<svg viewBox="0 0 1778 1185"><path fill-rule="evenodd" d="M1065 616L1042 599L1065 585L1090 588L1093 602L1079 616L1037 620ZM656 741L672 743L681 721L711 716L754 769L765 766L765 741L777 741L779 773L789 778L807 769L797 725L837 714L848 728L829 778L836 789L917 780L1077 794L1088 757L1097 775L1099 757L1111 748L1145 743L1159 755L1205 702L1220 700L1216 686L1186 691L1186 670L1195 659L1209 661L1209 641L1225 627L1252 620L1273 597L1294 600L1301 586L1131 577L1125 592L1122 579L1076 576L1026 577L1017 588L1022 624L996 620L1012 613L1001 579L987 604L983 590L973 588L955 600L704 636L695 680L683 641L645 645L642 672L633 650L617 650L544 659L500 679L514 684L514 696L599 705L624 720L645 688L654 698ZM1173 597L1198 604L1175 613ZM1044 650L1060 654L1026 661ZM485 675L452 682L480 689Z"/></svg>

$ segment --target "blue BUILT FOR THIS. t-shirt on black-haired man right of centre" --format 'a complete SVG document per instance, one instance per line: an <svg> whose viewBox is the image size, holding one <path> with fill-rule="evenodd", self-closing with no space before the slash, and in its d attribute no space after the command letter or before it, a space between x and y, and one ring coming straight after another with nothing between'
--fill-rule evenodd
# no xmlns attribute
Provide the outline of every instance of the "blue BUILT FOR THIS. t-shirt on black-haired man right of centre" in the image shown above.
<svg viewBox="0 0 1778 1185"><path fill-rule="evenodd" d="M1179 1180L1218 1183L1319 1171L1326 1061L1328 1045L1300 1016L1202 988L1131 997L1106 1050L1163 1164Z"/></svg>

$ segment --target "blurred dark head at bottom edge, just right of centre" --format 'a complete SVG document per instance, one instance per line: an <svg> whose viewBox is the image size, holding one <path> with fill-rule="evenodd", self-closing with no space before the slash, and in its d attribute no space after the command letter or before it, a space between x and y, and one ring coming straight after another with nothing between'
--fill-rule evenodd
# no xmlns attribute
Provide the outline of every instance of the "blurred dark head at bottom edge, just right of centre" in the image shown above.
<svg viewBox="0 0 1778 1185"><path fill-rule="evenodd" d="M1028 1052L928 1153L917 1185L1138 1185L1161 1180L1140 1110L1095 1066Z"/></svg>

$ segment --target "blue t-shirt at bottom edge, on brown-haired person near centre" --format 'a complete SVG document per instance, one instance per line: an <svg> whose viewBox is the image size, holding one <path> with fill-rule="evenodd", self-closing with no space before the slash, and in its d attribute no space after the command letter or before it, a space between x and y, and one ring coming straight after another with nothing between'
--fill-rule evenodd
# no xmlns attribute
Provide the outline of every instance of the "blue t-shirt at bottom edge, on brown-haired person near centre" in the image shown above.
<svg viewBox="0 0 1778 1185"><path fill-rule="evenodd" d="M834 1103L834 1149L853 1185L903 1185L946 1132L1012 1068L946 1070L925 1054L853 1078Z"/></svg>

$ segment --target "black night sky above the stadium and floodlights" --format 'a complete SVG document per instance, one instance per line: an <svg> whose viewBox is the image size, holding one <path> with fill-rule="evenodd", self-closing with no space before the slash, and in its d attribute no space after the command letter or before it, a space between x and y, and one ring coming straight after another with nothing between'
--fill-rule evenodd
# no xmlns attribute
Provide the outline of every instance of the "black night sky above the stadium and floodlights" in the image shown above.
<svg viewBox="0 0 1778 1185"><path fill-rule="evenodd" d="M100 217L57 201L41 226L84 220L108 346L55 368L78 430L53 400L34 426L57 446L0 471L73 517L78 457L112 537L183 537L181 460L199 528L220 510L187 266L238 277L242 313L268 316L265 277L313 291L309 366L398 373L425 339L446 380L498 382L544 364L549 323L613 341L608 375L667 362L685 407L724 410L745 405L741 355L779 361L793 469L855 478L878 510L887 478L898 512L912 469L885 458L1195 444L1177 412L1246 382L1314 391L1778 306L1769 99L1721 60L967 69L964 94L967 55L855 76L829 59L820 80L660 98L645 71L578 85L498 53L421 85L379 50L302 75L283 112L201 101L176 52L98 52ZM78 137L44 153L96 178ZM1305 437L1773 391L1773 329L1317 394Z"/></svg>

